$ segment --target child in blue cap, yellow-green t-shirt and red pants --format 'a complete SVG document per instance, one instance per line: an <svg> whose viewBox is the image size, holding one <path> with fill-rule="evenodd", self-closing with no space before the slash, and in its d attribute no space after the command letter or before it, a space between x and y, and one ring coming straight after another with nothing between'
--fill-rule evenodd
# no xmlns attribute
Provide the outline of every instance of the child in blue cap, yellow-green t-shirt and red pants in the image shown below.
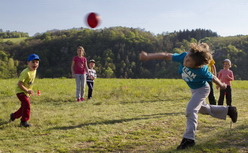
<svg viewBox="0 0 248 153"><path fill-rule="evenodd" d="M24 127L31 126L31 124L28 123L28 120L30 119L29 97L34 93L32 87L36 76L36 70L39 67L39 61L40 58L36 54L31 54L28 57L28 67L21 72L16 87L16 95L21 101L21 107L15 113L10 114L10 122L21 117L20 125Z"/></svg>

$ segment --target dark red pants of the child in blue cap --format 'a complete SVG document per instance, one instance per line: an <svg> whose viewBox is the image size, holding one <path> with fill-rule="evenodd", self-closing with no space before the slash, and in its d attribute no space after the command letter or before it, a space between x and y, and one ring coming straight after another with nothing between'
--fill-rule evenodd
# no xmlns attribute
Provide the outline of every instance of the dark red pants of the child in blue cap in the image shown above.
<svg viewBox="0 0 248 153"><path fill-rule="evenodd" d="M24 93L16 94L21 101L21 107L14 113L14 118L21 118L21 121L28 121L30 118L30 100Z"/></svg>

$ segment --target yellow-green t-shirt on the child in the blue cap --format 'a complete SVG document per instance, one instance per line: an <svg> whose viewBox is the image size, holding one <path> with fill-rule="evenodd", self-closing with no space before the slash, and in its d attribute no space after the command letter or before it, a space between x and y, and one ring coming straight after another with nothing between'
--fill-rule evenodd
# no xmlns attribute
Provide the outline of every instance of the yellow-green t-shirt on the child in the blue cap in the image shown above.
<svg viewBox="0 0 248 153"><path fill-rule="evenodd" d="M23 82L23 85L27 88L27 89L32 89L33 87L33 83L34 83L34 79L36 76L36 70L34 71L30 71L29 68L24 69L19 77L19 81ZM16 93L25 93L27 96L30 96L28 93L26 93L25 91L23 91L18 85L16 87Z"/></svg>

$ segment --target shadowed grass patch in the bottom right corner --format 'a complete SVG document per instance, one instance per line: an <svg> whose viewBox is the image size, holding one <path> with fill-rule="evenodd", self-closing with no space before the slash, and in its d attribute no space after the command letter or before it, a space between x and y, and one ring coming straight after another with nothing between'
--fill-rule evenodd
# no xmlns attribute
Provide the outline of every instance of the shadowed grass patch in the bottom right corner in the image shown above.
<svg viewBox="0 0 248 153"><path fill-rule="evenodd" d="M246 129L248 129L248 125L242 124L233 129L222 130L217 135L214 133L205 138L199 137L196 139L196 145L194 147L185 149L184 151L176 150L177 146L171 146L168 149L159 149L155 153L248 152L248 131Z"/></svg>

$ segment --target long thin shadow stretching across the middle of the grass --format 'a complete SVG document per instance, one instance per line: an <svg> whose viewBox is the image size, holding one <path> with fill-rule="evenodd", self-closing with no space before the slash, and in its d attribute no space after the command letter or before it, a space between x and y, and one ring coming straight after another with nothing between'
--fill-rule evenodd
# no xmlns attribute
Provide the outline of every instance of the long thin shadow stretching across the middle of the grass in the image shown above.
<svg viewBox="0 0 248 153"><path fill-rule="evenodd" d="M131 122L131 121L137 121L137 120L146 120L151 118L161 118L164 116L175 116L175 115L184 115L184 112L177 112L177 113L160 113L160 114L151 114L151 115L142 115L144 117L138 117L138 118L128 118L128 119L119 119L119 120L108 120L103 122L94 122L94 123L83 123L75 126L63 126L63 127L54 127L50 128L48 130L68 130L68 129L75 129L75 128L81 128L84 126L90 126L90 125L101 125L101 124L116 124L116 123L123 123L123 122Z"/></svg>

